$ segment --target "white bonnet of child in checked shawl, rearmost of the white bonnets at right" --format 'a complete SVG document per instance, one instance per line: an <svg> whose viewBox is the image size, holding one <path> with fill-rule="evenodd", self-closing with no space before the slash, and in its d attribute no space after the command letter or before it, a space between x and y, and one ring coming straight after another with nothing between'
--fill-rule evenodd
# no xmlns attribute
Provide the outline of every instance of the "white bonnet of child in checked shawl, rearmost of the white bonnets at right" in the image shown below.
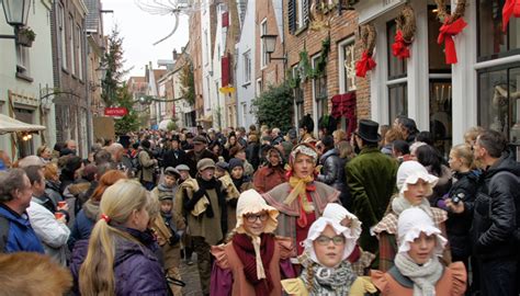
<svg viewBox="0 0 520 296"><path fill-rule="evenodd" d="M422 164L417 161L409 160L405 161L399 166L397 170L397 189L399 193L405 193L408 190L408 184L416 184L419 179L430 184L430 191L436 186L439 178L433 174L429 174ZM427 193L427 195L430 195Z"/></svg>

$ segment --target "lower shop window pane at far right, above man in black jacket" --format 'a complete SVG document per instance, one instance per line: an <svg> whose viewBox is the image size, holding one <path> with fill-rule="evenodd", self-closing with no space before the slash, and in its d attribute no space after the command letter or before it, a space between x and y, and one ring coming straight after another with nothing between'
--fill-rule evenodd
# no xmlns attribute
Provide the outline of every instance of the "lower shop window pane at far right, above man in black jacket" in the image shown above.
<svg viewBox="0 0 520 296"><path fill-rule="evenodd" d="M478 125L520 145L520 64L478 72Z"/></svg>

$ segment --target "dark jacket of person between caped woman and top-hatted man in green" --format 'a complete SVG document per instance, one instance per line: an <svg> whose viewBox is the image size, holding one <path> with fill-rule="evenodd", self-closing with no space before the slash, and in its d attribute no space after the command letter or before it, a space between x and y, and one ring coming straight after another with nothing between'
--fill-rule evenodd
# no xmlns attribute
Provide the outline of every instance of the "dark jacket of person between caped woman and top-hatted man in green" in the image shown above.
<svg viewBox="0 0 520 296"><path fill-rule="evenodd" d="M324 166L321 173L318 174L318 181L324 182L338 190L339 192L344 191L344 160L339 158L339 152L336 148L325 152L319 163Z"/></svg>

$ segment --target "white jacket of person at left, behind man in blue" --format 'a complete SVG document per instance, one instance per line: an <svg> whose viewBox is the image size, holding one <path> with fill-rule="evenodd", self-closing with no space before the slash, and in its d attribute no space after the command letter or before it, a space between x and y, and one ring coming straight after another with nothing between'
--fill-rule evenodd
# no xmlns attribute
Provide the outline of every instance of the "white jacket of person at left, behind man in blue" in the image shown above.
<svg viewBox="0 0 520 296"><path fill-rule="evenodd" d="M67 264L67 240L70 229L66 224L58 221L54 214L41 204L31 201L27 208L29 219L34 232L43 243L45 253L61 265Z"/></svg>

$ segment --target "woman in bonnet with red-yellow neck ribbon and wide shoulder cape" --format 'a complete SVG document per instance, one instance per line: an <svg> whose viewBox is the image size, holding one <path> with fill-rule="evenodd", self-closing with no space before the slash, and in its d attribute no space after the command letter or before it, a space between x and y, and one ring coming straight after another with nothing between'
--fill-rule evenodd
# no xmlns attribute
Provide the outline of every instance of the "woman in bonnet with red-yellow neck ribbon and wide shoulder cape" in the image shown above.
<svg viewBox="0 0 520 296"><path fill-rule="evenodd" d="M297 254L307 238L310 225L321 216L328 203L338 202L340 192L316 182L318 153L309 144L299 144L289 157L289 182L263 194L268 204L280 210L276 234L295 242Z"/></svg>

